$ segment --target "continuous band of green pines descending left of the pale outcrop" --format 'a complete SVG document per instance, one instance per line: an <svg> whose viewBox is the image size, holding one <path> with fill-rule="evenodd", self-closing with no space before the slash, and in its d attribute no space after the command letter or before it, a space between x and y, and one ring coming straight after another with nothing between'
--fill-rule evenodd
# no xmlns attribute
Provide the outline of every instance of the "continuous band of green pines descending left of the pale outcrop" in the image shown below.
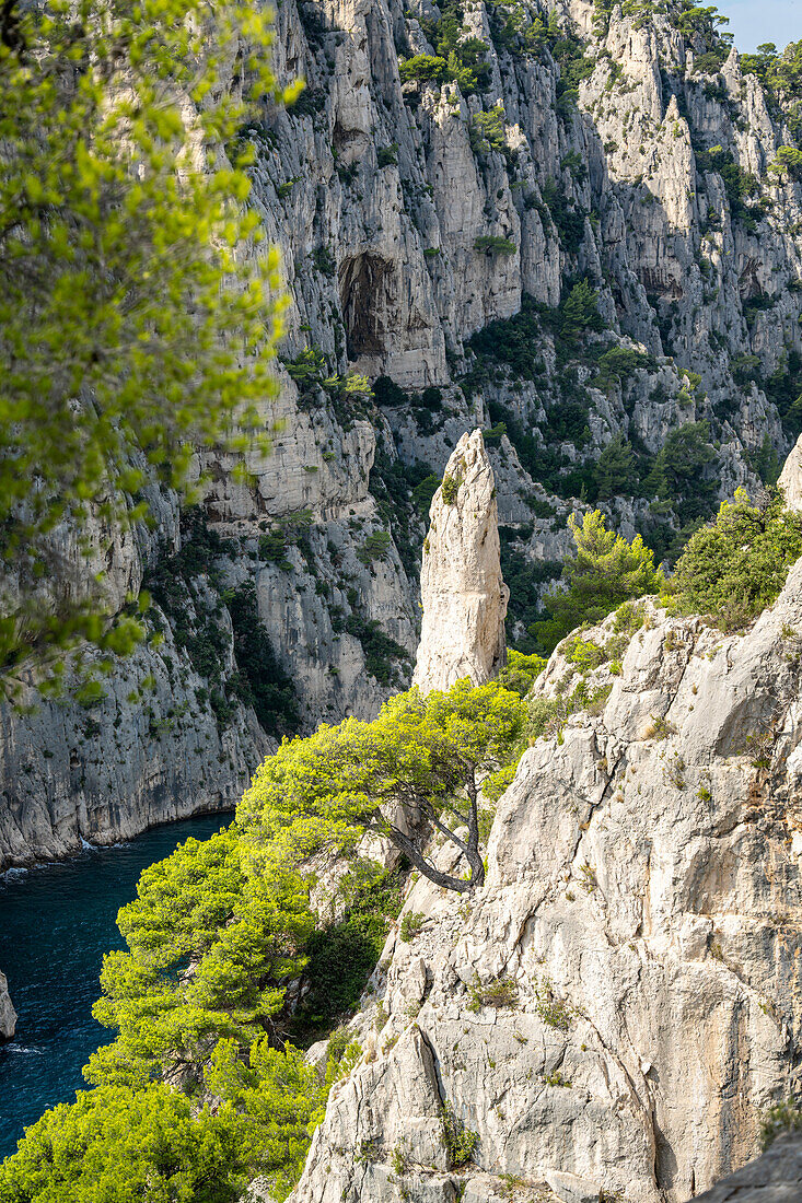
<svg viewBox="0 0 802 1203"><path fill-rule="evenodd" d="M264 1174L284 1199L329 1090L360 1056L336 1025L378 961L409 861L454 890L482 882L479 782L517 753L525 722L517 693L462 681L425 699L401 694L372 723L285 741L256 774L238 823L142 873L118 918L126 949L105 958L94 1009L116 1039L84 1071L94 1089L43 1115L0 1167L0 1197L235 1203ZM382 813L396 805L459 847L465 877L426 861L420 818L419 836L396 838ZM465 822L465 841L450 819ZM390 873L366 861L356 852L365 830L396 838L408 860ZM309 907L324 849L347 858L328 887L342 917L329 923ZM291 1039L326 1031L324 1063L307 1063ZM452 1136L461 1157L470 1134L458 1124Z"/></svg>

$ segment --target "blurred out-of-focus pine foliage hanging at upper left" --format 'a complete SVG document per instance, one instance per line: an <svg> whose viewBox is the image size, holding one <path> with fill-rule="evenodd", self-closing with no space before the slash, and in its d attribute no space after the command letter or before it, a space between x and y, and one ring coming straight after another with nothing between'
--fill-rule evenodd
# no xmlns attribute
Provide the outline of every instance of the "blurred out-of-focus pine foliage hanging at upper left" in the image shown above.
<svg viewBox="0 0 802 1203"><path fill-rule="evenodd" d="M241 248L258 96L276 94L256 0L11 0L0 32L0 685L108 633L102 582L52 595L64 527L148 516L195 446L265 443L277 261ZM225 85L230 64L247 101ZM188 118L187 113L194 117ZM222 156L226 146L230 159ZM231 166L234 162L234 166ZM145 490L145 492L142 492ZM61 529L58 534L57 528ZM54 535L53 533L57 532ZM84 576L88 574L84 574Z"/></svg>

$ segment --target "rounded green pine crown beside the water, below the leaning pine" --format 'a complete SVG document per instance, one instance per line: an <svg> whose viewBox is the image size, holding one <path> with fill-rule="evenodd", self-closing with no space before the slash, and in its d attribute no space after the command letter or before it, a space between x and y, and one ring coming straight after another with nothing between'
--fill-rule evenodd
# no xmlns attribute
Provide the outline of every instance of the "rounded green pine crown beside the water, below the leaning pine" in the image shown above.
<svg viewBox="0 0 802 1203"><path fill-rule="evenodd" d="M191 1071L220 1037L247 1047L269 1030L314 919L300 875L277 865L250 876L230 829L147 869L118 925L128 950L104 958L93 1008L118 1038L92 1055L84 1077L140 1086L169 1067Z"/></svg>

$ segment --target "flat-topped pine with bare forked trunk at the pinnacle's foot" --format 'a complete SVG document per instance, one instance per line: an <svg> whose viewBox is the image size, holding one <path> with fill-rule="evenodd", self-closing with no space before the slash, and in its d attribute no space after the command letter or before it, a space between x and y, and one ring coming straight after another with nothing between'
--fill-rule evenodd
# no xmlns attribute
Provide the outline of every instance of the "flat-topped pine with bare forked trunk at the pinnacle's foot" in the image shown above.
<svg viewBox="0 0 802 1203"><path fill-rule="evenodd" d="M282 743L256 771L237 811L260 845L295 860L354 848L365 831L390 840L414 867L447 889L480 885L478 793L490 770L513 758L523 733L520 698L491 683L458 681L448 693L418 689L385 703L373 722L348 718ZM420 819L452 843L465 876L426 857ZM461 826L467 836L458 835Z"/></svg>

